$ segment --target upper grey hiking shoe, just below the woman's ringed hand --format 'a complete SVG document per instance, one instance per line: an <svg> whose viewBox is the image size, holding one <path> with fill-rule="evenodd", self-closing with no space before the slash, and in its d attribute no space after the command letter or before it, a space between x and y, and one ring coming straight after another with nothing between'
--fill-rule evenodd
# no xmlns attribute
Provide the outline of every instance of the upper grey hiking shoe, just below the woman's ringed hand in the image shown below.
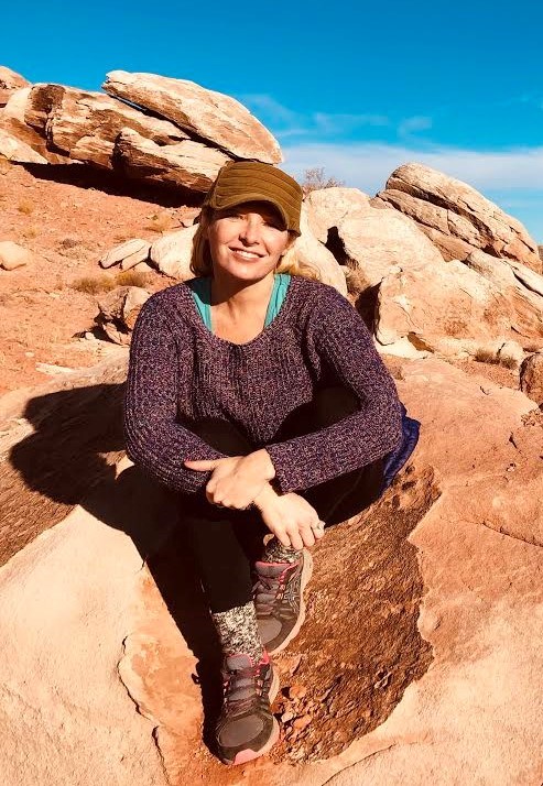
<svg viewBox="0 0 543 786"><path fill-rule="evenodd" d="M307 550L296 563L257 563L252 597L262 644L270 655L297 636L305 620L303 591L313 572Z"/></svg>

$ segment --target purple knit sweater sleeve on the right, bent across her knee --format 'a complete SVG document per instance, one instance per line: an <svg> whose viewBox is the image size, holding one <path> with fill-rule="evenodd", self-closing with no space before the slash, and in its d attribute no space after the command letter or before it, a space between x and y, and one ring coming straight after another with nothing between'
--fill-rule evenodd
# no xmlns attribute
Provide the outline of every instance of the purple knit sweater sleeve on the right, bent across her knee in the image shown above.
<svg viewBox="0 0 543 786"><path fill-rule="evenodd" d="M282 493L302 491L385 456L400 443L401 410L394 381L371 334L339 293L323 298L315 347L359 410L318 432L267 445Z"/></svg>

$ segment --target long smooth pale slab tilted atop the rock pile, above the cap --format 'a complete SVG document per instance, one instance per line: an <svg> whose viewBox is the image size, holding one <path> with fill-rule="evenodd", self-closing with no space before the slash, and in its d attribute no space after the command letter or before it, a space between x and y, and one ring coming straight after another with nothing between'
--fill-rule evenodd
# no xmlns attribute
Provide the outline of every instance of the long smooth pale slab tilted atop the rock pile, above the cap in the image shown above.
<svg viewBox="0 0 543 786"><path fill-rule="evenodd" d="M102 88L116 98L156 112L236 157L270 164L282 161L275 139L230 96L206 90L186 79L126 70L110 72Z"/></svg>

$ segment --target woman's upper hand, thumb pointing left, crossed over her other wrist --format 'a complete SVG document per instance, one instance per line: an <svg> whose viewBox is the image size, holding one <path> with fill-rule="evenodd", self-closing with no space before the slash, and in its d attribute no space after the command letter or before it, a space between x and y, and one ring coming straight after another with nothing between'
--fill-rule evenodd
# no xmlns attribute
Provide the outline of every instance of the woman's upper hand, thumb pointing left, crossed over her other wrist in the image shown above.
<svg viewBox="0 0 543 786"><path fill-rule="evenodd" d="M213 460L184 461L188 469L199 472L213 470L206 495L214 505L243 510L260 494L265 483L275 476L270 456L257 450L249 456L227 456Z"/></svg>

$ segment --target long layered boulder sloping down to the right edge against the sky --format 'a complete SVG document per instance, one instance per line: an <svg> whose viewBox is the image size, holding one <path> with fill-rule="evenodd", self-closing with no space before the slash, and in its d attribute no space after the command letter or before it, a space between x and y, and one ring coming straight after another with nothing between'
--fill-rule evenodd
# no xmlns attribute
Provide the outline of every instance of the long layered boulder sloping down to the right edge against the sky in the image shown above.
<svg viewBox="0 0 543 786"><path fill-rule="evenodd" d="M394 170L378 197L414 219L446 260L465 260L481 249L542 271L537 245L520 221L437 170L404 164Z"/></svg>

